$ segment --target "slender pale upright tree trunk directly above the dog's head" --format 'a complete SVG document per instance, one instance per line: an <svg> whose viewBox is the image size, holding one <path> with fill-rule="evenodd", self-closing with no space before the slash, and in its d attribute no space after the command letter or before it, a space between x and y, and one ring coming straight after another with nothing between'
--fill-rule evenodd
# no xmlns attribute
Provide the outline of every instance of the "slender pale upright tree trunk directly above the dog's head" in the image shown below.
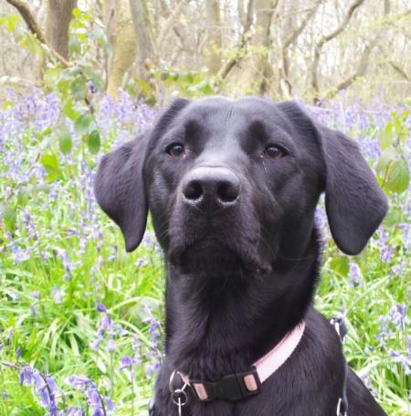
<svg viewBox="0 0 411 416"><path fill-rule="evenodd" d="M207 67L212 74L216 74L221 68L221 37L220 6L217 0L205 0L205 12L207 20Z"/></svg>

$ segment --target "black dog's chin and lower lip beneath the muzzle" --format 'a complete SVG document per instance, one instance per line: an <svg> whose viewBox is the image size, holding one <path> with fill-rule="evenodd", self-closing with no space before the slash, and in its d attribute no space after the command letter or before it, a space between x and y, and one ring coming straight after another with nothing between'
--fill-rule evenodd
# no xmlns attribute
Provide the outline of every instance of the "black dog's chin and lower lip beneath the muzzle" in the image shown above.
<svg viewBox="0 0 411 416"><path fill-rule="evenodd" d="M210 238L186 246L171 245L168 259L184 273L215 277L267 274L271 270L269 262L258 256L255 247L238 249Z"/></svg>

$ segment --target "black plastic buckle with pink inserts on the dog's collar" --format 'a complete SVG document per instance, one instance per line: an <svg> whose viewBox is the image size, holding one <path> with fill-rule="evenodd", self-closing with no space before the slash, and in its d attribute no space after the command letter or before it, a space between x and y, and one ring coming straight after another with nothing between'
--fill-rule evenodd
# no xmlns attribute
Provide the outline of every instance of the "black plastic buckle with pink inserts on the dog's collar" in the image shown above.
<svg viewBox="0 0 411 416"><path fill-rule="evenodd" d="M241 373L228 374L216 382L190 379L195 397L200 401L243 400L258 394L261 381L255 367Z"/></svg>

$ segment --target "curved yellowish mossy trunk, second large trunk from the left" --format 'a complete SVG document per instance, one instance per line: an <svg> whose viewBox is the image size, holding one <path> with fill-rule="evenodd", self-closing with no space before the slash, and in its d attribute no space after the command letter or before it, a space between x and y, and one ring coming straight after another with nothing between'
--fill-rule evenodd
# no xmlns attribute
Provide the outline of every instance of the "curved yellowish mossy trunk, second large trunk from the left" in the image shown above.
<svg viewBox="0 0 411 416"><path fill-rule="evenodd" d="M124 74L132 67L136 55L136 40L128 0L105 0L104 23L113 53L108 63L107 92L118 98Z"/></svg>

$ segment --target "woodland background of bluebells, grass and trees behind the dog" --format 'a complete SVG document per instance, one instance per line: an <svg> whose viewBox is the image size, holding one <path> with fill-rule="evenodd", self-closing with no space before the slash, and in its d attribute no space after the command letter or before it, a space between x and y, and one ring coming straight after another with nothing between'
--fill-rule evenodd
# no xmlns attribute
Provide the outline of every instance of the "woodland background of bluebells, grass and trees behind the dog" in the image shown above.
<svg viewBox="0 0 411 416"><path fill-rule="evenodd" d="M390 200L325 254L316 305L390 415L411 414L408 0L0 0L0 415L143 415L163 349L153 229L126 255L100 155L180 96L297 100L356 140Z"/></svg>

